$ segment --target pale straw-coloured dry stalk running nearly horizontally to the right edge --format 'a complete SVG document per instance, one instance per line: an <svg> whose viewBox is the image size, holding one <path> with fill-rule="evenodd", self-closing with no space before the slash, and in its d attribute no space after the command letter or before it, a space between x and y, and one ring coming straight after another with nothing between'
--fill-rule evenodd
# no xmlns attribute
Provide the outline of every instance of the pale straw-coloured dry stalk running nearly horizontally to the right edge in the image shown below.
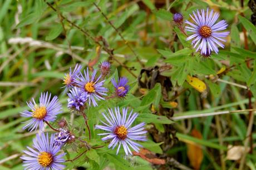
<svg viewBox="0 0 256 170"><path fill-rule="evenodd" d="M185 116L174 116L171 119L178 121L183 119L191 119L196 117L208 117L208 116L214 116L219 114L229 114L229 113L240 113L240 112L254 112L256 109L243 109L238 111L220 111L220 112L211 112L211 113L201 113L201 114L193 114L193 115L185 115Z"/></svg>

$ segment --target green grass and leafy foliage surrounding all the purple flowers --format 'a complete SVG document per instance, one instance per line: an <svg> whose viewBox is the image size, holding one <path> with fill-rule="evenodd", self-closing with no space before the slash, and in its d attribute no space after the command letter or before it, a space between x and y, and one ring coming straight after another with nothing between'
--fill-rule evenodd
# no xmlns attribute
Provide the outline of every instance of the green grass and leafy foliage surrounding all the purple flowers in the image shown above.
<svg viewBox="0 0 256 170"><path fill-rule="evenodd" d="M173 22L176 12L189 19L206 8L230 31L225 49L209 58L195 53ZM83 128L66 107L62 78L76 63L96 68L105 60L112 64L107 87L119 75L131 90L124 100L90 108L90 127L107 107L134 108L147 123L147 150L124 157L105 147L67 169L256 169L255 9L256 1L243 0L0 0L0 169L23 168L19 157L35 132L22 130L19 112L43 91L60 98L59 118ZM94 131L92 137L101 143ZM77 155L67 152L67 159Z"/></svg>

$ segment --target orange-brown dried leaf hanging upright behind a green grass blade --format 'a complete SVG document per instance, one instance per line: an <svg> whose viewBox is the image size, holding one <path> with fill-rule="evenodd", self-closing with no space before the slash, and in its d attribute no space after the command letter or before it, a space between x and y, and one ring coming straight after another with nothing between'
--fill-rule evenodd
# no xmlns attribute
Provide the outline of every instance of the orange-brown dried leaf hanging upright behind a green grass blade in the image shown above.
<svg viewBox="0 0 256 170"><path fill-rule="evenodd" d="M192 130L191 136L199 139L202 138L201 133L196 129ZM187 154L188 154L188 158L191 166L194 169L200 169L201 162L203 161L203 157L204 157L201 147L194 143L187 143L187 146L188 146Z"/></svg>

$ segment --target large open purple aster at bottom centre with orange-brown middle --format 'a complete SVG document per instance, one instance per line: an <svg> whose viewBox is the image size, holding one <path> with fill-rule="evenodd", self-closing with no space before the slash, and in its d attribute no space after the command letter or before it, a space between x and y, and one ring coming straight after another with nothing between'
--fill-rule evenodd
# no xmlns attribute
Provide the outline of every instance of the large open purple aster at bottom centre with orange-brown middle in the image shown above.
<svg viewBox="0 0 256 170"><path fill-rule="evenodd" d="M112 109L109 109L109 113L105 115L102 113L107 123L102 122L104 126L97 125L96 129L102 129L107 131L107 133L100 133L99 135L106 135L106 137L102 138L102 141L111 140L109 144L109 148L112 147L114 149L117 144L116 154L119 153L120 146L124 148L125 154L132 154L131 149L134 149L136 152L139 152L139 147L142 147L136 141L146 141L146 136L144 135L147 131L144 131L145 123L142 122L137 124L134 127L131 127L131 124L135 121L136 117L139 115L138 113L130 112L127 118L127 108L122 108L122 114L120 113L119 107L115 108L115 114Z"/></svg>

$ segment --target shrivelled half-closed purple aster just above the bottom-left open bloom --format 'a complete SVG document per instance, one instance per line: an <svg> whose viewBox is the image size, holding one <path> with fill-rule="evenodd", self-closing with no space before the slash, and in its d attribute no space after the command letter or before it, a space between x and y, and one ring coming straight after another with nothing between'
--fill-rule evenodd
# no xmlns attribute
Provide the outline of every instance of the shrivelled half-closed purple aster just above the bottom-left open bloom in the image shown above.
<svg viewBox="0 0 256 170"><path fill-rule="evenodd" d="M54 139L54 144L55 146L62 147L65 143L72 141L73 139L75 139L75 136L67 130L60 128L60 132L58 132L57 137Z"/></svg>

